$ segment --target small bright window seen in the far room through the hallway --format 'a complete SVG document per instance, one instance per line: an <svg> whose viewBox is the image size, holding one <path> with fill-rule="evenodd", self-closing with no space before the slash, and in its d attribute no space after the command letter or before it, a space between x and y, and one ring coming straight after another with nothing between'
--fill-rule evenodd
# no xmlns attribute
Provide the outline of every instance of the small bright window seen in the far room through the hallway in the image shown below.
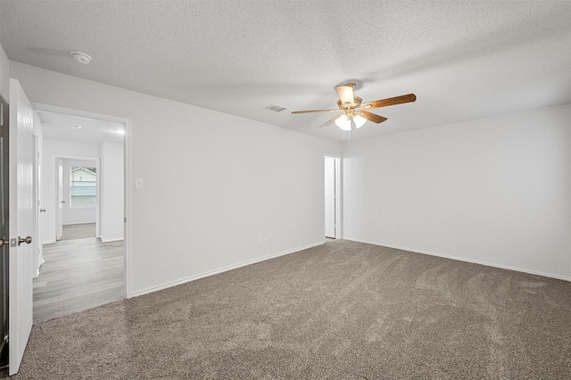
<svg viewBox="0 0 571 380"><path fill-rule="evenodd" d="M97 205L97 169L83 166L70 168L70 207Z"/></svg>

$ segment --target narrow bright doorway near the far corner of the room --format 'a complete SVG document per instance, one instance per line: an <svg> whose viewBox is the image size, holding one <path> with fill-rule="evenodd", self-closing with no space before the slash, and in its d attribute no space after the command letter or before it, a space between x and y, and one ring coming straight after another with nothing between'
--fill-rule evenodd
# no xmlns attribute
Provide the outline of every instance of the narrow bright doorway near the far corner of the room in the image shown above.
<svg viewBox="0 0 571 380"><path fill-rule="evenodd" d="M340 161L339 157L325 157L325 237L328 239L341 237Z"/></svg>

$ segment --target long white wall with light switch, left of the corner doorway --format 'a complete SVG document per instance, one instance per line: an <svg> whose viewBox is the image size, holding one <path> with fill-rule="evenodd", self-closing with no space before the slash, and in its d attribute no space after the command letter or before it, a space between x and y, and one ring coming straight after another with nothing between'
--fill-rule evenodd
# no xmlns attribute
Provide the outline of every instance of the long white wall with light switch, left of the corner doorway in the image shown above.
<svg viewBox="0 0 571 380"><path fill-rule="evenodd" d="M32 102L132 120L131 179L144 179L143 189L128 184L133 293L323 242L323 157L341 144L18 62L10 68Z"/></svg>

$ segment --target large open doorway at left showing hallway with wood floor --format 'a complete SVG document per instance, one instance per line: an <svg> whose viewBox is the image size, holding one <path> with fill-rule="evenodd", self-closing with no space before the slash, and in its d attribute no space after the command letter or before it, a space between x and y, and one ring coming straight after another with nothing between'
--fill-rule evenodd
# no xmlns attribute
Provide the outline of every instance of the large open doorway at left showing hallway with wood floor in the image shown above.
<svg viewBox="0 0 571 380"><path fill-rule="evenodd" d="M128 120L34 104L43 127L44 264L34 322L129 296Z"/></svg>

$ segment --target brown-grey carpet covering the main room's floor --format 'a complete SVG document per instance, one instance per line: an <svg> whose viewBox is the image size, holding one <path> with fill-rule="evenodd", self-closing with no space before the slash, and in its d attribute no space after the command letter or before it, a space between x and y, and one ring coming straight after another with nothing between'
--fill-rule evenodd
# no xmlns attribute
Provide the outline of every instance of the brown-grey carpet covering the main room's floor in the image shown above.
<svg viewBox="0 0 571 380"><path fill-rule="evenodd" d="M32 378L568 379L571 283L336 240L34 326Z"/></svg>

